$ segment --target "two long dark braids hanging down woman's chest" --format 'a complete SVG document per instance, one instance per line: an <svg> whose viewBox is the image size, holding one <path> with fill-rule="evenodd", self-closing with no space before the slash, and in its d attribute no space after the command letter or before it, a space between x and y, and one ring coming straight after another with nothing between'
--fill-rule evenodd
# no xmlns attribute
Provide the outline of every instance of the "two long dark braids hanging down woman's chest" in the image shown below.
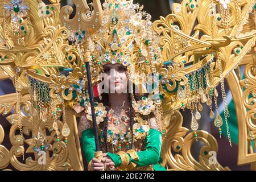
<svg viewBox="0 0 256 182"><path fill-rule="evenodd" d="M109 112L109 97L108 94L101 94L102 96L102 104L104 104L104 106L106 107L106 111L107 113ZM129 97L129 106L130 106L130 131L131 131L131 145L130 145L130 149L133 147L133 123L134 123L134 109L133 109L133 99L132 96L130 94ZM108 121L109 121L109 117L108 115L104 118L104 144L106 147L106 152L109 151L109 147L108 147Z"/></svg>

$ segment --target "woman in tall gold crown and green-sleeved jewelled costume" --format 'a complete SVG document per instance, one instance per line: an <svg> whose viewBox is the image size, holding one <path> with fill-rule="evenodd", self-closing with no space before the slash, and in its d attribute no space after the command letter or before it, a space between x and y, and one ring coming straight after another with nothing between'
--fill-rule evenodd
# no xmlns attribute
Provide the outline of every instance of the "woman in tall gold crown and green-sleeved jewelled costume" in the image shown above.
<svg viewBox="0 0 256 182"><path fill-rule="evenodd" d="M94 73L106 74L105 92L99 100L104 106L96 107L104 158L102 163L94 158L89 108L79 124L88 169L164 170L158 164L162 144L162 121L159 107L155 107L158 101L151 100L148 94L135 96L134 88L127 86L129 81L141 83L144 76L137 75L156 73L162 63L158 35L152 30L150 15L141 6L119 0L107 1L103 7L102 27L92 36L90 48ZM127 88L131 92L127 93Z"/></svg>

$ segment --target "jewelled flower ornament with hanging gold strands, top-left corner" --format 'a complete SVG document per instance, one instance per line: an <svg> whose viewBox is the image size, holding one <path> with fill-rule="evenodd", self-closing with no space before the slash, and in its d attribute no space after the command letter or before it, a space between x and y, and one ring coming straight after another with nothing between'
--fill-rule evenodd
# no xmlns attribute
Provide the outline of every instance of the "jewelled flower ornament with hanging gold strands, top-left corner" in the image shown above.
<svg viewBox="0 0 256 182"><path fill-rule="evenodd" d="M27 26L29 22L28 3L22 0L5 0L3 9L3 24L5 26L5 38L7 39L9 37L9 27L7 27L7 18L9 18L10 16L10 29L12 31L12 36L16 36L18 38L18 43L21 44L22 36L27 34L25 26ZM24 20L26 18L27 21Z"/></svg>

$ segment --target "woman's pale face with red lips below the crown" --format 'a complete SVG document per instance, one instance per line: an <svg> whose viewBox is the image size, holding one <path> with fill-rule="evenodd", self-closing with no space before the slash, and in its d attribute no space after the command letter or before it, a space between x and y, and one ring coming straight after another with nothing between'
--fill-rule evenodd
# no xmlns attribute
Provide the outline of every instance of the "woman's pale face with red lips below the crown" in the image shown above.
<svg viewBox="0 0 256 182"><path fill-rule="evenodd" d="M127 93L127 69L122 64L106 64L104 66L105 85L109 93Z"/></svg>

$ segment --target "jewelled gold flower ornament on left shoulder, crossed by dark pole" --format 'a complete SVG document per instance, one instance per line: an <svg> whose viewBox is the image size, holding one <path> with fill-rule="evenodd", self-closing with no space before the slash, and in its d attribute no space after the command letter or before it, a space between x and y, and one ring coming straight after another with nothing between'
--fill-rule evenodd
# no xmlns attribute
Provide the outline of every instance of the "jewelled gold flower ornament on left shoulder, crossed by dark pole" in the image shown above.
<svg viewBox="0 0 256 182"><path fill-rule="evenodd" d="M98 102L94 102L94 109L95 109L95 114L96 114L96 122L98 125L98 124L100 124L100 122L104 121L107 111L106 111L106 107L102 103L98 103ZM90 103L88 103L86 117L87 117L87 119L92 121L92 110L90 109Z"/></svg>

